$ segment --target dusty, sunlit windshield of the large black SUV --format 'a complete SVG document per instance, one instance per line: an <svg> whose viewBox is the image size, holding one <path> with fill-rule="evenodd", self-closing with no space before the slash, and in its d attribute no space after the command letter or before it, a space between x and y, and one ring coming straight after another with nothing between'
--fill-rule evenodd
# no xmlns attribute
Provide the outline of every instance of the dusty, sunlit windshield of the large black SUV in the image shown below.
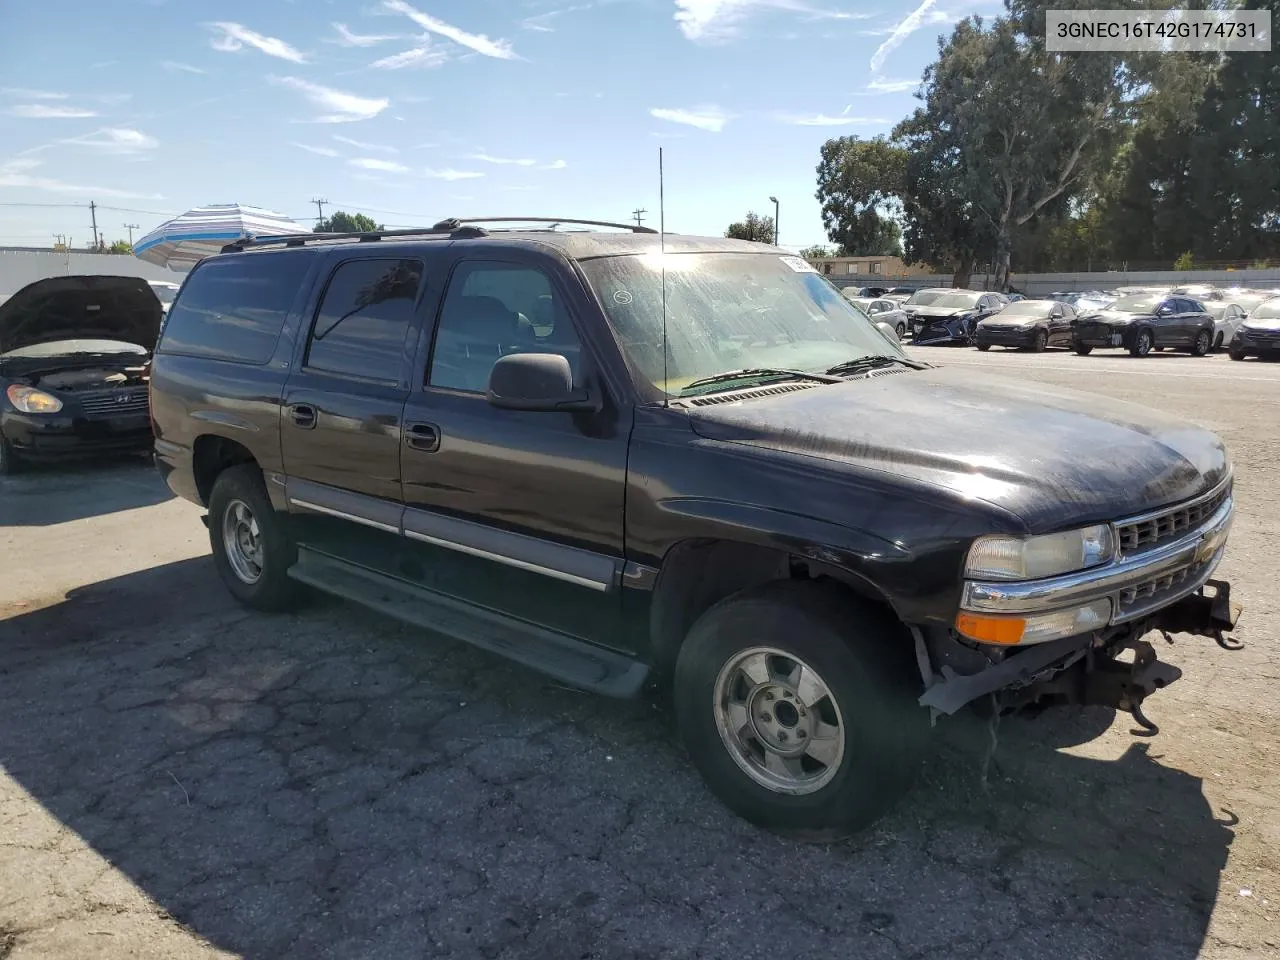
<svg viewBox="0 0 1280 960"><path fill-rule="evenodd" d="M668 394L731 370L820 372L855 357L904 356L865 314L797 257L650 253L584 260L582 270L632 364Z"/></svg>

